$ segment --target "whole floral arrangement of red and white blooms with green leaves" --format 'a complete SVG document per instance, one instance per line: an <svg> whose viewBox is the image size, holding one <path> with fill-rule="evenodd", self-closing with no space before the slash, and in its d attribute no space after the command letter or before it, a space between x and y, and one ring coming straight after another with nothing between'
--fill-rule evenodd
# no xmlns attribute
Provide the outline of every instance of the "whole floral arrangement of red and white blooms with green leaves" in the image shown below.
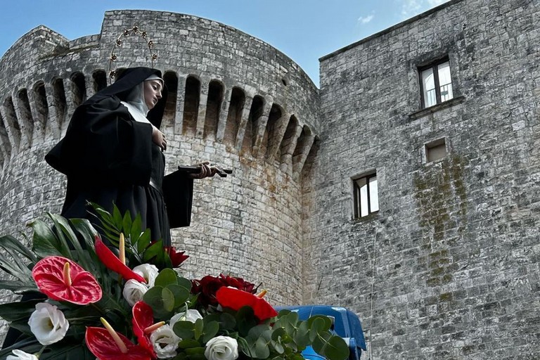
<svg viewBox="0 0 540 360"><path fill-rule="evenodd" d="M293 360L308 346L347 359L328 317L278 313L242 278L184 278L188 256L150 241L140 216L93 206L106 244L89 221L57 214L29 224L31 245L0 238L0 268L10 276L0 288L23 294L0 304L20 331L0 359Z"/></svg>

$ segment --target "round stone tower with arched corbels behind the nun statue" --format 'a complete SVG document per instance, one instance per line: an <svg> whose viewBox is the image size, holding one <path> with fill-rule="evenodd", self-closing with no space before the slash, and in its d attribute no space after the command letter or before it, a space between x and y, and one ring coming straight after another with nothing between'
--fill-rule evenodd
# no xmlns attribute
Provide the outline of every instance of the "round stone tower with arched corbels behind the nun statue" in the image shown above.
<svg viewBox="0 0 540 360"><path fill-rule="evenodd" d="M68 41L37 27L12 46L0 60L0 233L60 212L65 176L44 155L77 105L106 85L114 41L134 25L154 41L169 87L169 171L202 160L233 169L196 181L192 225L173 231L191 256L186 275L243 276L278 304L299 303L298 181L318 133L318 90L263 41L191 15L110 11L101 34ZM124 40L115 66L148 66L142 41Z"/></svg>

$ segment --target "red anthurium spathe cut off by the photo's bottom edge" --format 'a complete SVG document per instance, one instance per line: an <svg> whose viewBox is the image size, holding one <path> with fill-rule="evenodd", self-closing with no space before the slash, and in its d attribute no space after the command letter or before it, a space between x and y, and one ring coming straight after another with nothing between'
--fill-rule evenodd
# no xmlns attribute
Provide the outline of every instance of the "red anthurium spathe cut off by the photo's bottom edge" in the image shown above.
<svg viewBox="0 0 540 360"><path fill-rule="evenodd" d="M127 352L122 354L118 345L105 328L86 328L86 346L100 360L151 360L152 355L147 349L135 345L124 335L117 333L127 347Z"/></svg>

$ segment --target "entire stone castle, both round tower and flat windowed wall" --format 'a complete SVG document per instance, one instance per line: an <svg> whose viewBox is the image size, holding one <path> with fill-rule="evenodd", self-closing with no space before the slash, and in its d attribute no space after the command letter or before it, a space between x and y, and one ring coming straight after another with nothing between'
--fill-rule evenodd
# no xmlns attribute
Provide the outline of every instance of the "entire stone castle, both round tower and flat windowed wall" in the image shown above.
<svg viewBox="0 0 540 360"><path fill-rule="evenodd" d="M37 27L0 60L1 233L59 212L44 153L137 25L172 94L169 171L234 169L196 184L193 224L173 232L188 274L349 307L365 359L540 359L539 5L451 0L321 58L320 90L191 15L110 11L73 41ZM136 41L120 56L148 65Z"/></svg>

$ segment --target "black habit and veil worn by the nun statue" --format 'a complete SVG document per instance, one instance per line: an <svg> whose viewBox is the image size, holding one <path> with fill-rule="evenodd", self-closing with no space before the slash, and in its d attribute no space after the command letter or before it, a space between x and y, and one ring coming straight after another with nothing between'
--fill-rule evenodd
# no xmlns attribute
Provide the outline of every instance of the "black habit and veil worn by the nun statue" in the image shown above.
<svg viewBox="0 0 540 360"><path fill-rule="evenodd" d="M159 70L129 68L117 81L80 105L73 114L65 137L45 160L67 175L68 188L62 215L86 218L87 201L109 212L115 204L122 214L141 214L143 229L152 240L171 245L169 229L191 221L193 179L187 174L165 174L165 156L152 141L152 125L160 127L167 89L147 115L151 124L137 122L120 101ZM165 86L164 86L165 88ZM168 214L167 214L168 210Z"/></svg>

